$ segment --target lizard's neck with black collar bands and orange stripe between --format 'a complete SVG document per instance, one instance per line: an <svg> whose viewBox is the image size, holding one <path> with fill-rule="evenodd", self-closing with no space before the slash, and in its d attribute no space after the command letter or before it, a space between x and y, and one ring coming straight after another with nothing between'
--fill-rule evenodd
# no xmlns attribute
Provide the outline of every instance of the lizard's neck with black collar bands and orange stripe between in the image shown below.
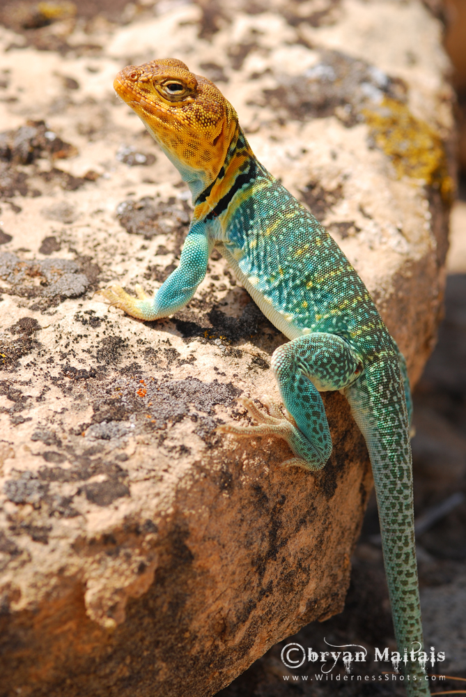
<svg viewBox="0 0 466 697"><path fill-rule="evenodd" d="M263 168L237 124L217 178L205 187L194 201L194 219L218 217L235 193L256 178L259 169L262 171Z"/></svg>

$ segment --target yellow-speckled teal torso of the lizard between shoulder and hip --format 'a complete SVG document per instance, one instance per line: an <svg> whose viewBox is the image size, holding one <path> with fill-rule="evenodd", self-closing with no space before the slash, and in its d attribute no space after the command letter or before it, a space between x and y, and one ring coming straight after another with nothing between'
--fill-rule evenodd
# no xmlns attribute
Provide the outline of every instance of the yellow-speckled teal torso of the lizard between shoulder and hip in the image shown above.
<svg viewBox="0 0 466 697"><path fill-rule="evenodd" d="M261 179L261 195L256 196L254 187ZM391 348L380 315L367 302L368 291L348 259L281 184L261 174L244 187L240 206L228 217L227 250L243 252L238 261L242 273L257 278L258 291L292 318L297 330L338 331L363 350L374 342L373 348Z"/></svg>

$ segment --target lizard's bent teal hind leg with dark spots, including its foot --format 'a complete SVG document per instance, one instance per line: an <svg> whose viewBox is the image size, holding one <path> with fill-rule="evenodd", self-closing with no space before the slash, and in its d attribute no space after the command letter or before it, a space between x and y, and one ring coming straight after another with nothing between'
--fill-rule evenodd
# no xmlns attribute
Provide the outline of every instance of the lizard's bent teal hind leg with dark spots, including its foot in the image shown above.
<svg viewBox="0 0 466 697"><path fill-rule="evenodd" d="M319 390L340 390L350 385L362 371L359 356L341 337L316 332L279 346L272 355L272 371L288 415L280 415L267 401L270 415L265 415L254 402L243 400L250 415L261 424L225 424L217 430L237 436L279 436L295 454L282 466L319 470L332 452Z"/></svg>

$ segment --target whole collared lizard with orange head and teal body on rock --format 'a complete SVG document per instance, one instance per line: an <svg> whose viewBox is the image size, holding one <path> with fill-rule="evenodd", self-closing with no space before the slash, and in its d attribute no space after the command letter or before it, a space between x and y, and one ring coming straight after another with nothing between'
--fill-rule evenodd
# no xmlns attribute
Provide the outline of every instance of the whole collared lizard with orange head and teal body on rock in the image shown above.
<svg viewBox="0 0 466 697"><path fill-rule="evenodd" d="M282 466L319 470L332 451L319 392L340 390L366 440L398 652L421 648L410 447L411 397L403 355L364 283L329 233L263 165L235 109L208 79L176 59L128 66L118 95L189 185L194 214L180 263L154 297L135 286L101 291L127 314L155 320L177 312L203 280L214 245L265 316L290 339L272 355L285 413L244 399L256 426L237 436L278 436L293 457ZM409 655L408 654L408 655ZM410 697L429 695L419 661L405 664Z"/></svg>

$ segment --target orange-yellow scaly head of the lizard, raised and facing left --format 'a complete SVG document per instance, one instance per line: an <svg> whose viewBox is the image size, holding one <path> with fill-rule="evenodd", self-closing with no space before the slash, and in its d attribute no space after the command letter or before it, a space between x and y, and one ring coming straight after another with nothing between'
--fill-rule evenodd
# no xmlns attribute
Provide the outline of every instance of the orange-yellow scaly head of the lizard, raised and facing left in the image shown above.
<svg viewBox="0 0 466 697"><path fill-rule="evenodd" d="M193 195L215 181L238 127L235 109L215 84L169 58L127 66L116 76L114 89L162 146Z"/></svg>

